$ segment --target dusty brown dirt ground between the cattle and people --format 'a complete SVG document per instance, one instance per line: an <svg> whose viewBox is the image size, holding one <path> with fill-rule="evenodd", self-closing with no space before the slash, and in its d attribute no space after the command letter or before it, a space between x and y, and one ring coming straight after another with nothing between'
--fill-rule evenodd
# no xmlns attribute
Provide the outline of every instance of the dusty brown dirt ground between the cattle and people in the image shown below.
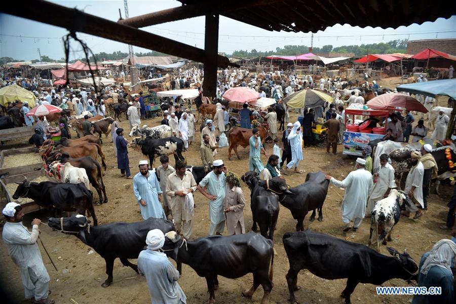
<svg viewBox="0 0 456 304"><path fill-rule="evenodd" d="M400 82L396 78L381 81L385 87L393 87L392 82ZM439 99L439 105L445 105L446 99ZM296 119L295 114L292 120ZM142 124L155 126L160 123L160 119L150 119L143 121ZM121 125L128 130L128 121L122 118ZM198 125L199 127L199 125ZM199 129L197 127L197 129ZM200 132L197 131L197 139ZM24 141L24 140L22 140ZM17 143L17 142L16 142ZM10 147L9 143L6 147ZM186 153L187 163L200 166L199 143L190 146ZM116 157L113 151L112 139L103 138L103 152L106 156L108 169L105 172L104 182L107 188L108 203L102 206L96 206L95 210L98 216L99 224L105 224L115 221L135 222L142 220L139 213L138 203L136 202L131 180L120 178L120 171L117 166ZM343 179L344 176L353 170L354 159L345 158L341 155L341 145L338 146L338 154L326 155L323 145L316 148L306 148L304 151L304 160L300 163L302 174L291 174L286 176L287 182L291 186L296 186L303 182L307 172L316 172L321 170L335 178ZM267 151L272 153L272 144L267 145ZM248 149L240 148L241 160L236 157L232 161L228 160L227 148L219 149L217 158L224 160L227 168L241 175L248 171ZM129 149L129 158L132 166L132 174L138 172L137 164L140 159L144 159L137 151ZM157 160L158 161L158 160ZM262 156L262 161L267 160ZM174 165L174 161L171 161ZM155 165L158 165L157 163ZM250 191L245 183L242 183L242 189L247 204L244 210L244 219L247 232L252 225L252 215L250 210ZM416 262L420 261L421 255L429 251L431 247L440 239L449 238L449 232L439 229L446 219L447 207L450 195L453 189L447 184L442 184L441 195L432 194L429 199L429 211L417 220L402 217L393 230L393 241L389 243L403 252L404 249L410 253ZM344 191L340 188L329 186L328 195L323 206L324 221L309 222L306 218L305 226L310 229L337 238L343 238L352 242L367 244L369 236L370 219L364 219L358 232L344 234L341 229L343 223L341 220L340 203L344 196ZM94 201L97 195L94 191ZM210 220L208 219L208 201L200 193L195 195L197 208L195 209L195 229L194 236L207 236L209 231ZM24 224L30 226L34 217L41 218L44 222L50 214L46 211L28 214L24 218ZM283 248L282 236L289 231L295 231L295 220L293 220L290 211L283 206L281 207L277 223L277 231L274 235L275 250L277 252L274 259L274 288L271 292L271 303L287 303L288 289L285 280L285 274L288 271L288 260ZM72 235L64 235L58 231L52 231L48 226L41 226L41 238L46 245L52 259L57 265L56 272L49 258L46 256L41 244L39 245L43 260L51 277L50 289L52 290L51 298L56 303L69 303L70 299L75 302L83 303L146 303L150 301L146 281L143 277L137 275L132 269L122 267L122 263L117 259L114 266L114 281L107 288L101 287L101 283L106 279L104 260L96 253L92 253L92 248L83 244L79 239ZM1 280L3 287L18 303L25 303L23 299L23 287L16 265L8 256L8 251L3 242L0 245L0 261L2 263ZM387 254L385 246L381 247L381 252ZM133 260L133 262L136 262ZM241 291L250 288L252 284L252 275L248 274L242 278L231 280L219 278L220 288L216 291L218 303L258 303L262 297L262 288L258 288L251 299L244 298ZM301 303L342 303L344 300L339 297L340 292L345 288L346 280L324 280L312 275L308 271L301 271L298 276L298 285L302 288L295 292L296 298ZM187 265L183 265L182 277L179 284L187 296L188 303L202 303L208 298L206 281L199 277L195 271ZM385 282L385 286L406 286L403 280L393 279ZM359 284L353 295L354 303L409 303L411 296L379 296L375 293L375 286L371 284Z"/></svg>

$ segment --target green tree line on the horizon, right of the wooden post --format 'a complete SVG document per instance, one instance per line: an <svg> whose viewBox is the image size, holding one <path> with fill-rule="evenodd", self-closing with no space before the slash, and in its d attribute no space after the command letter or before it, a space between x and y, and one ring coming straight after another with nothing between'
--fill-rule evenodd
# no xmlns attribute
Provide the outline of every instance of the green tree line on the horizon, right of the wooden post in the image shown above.
<svg viewBox="0 0 456 304"><path fill-rule="evenodd" d="M321 48L314 47L312 53L355 53L355 56L364 56L369 54L391 54L391 53L405 53L407 48L406 40L393 40L387 43L373 43L373 44L361 44L351 46L341 46L333 48L332 45L325 45ZM309 53L308 46L297 46L288 45L283 48L276 48L275 51L257 51L256 49L251 50L240 50L234 51L232 55L237 57L256 57L256 56L269 56L269 55L284 55L284 56L296 56L300 54Z"/></svg>

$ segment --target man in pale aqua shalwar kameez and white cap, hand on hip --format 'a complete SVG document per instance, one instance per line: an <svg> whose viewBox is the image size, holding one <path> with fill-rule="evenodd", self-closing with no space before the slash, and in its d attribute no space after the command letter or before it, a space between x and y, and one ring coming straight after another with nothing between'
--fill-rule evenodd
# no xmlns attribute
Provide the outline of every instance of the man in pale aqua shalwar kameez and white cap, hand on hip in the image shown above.
<svg viewBox="0 0 456 304"><path fill-rule="evenodd" d="M209 199L209 217L211 226L209 235L221 235L225 227L225 216L223 213L223 201L226 194L225 173L226 167L222 160L215 160L212 163L214 169L209 172L198 185L198 190ZM207 186L207 192L204 187Z"/></svg>

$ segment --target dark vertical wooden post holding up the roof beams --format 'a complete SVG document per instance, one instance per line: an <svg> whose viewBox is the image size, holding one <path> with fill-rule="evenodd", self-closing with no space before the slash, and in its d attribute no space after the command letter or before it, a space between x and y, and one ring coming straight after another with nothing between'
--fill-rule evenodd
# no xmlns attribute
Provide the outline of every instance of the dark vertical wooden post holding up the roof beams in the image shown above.
<svg viewBox="0 0 456 304"><path fill-rule="evenodd" d="M206 29L204 37L204 63L203 95L215 96L217 84L217 56L218 56L218 15L206 15Z"/></svg>

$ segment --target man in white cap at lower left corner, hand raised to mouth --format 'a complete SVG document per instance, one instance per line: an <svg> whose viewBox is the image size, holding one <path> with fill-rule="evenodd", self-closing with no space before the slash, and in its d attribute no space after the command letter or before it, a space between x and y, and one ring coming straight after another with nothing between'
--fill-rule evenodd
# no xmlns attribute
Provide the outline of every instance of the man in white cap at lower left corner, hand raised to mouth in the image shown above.
<svg viewBox="0 0 456 304"><path fill-rule="evenodd" d="M49 275L43 264L36 241L41 220L32 221L32 232L22 224L24 212L18 203L8 203L2 211L6 217L2 238L8 247L8 254L19 267L25 298L34 303L54 303L49 300Z"/></svg>

